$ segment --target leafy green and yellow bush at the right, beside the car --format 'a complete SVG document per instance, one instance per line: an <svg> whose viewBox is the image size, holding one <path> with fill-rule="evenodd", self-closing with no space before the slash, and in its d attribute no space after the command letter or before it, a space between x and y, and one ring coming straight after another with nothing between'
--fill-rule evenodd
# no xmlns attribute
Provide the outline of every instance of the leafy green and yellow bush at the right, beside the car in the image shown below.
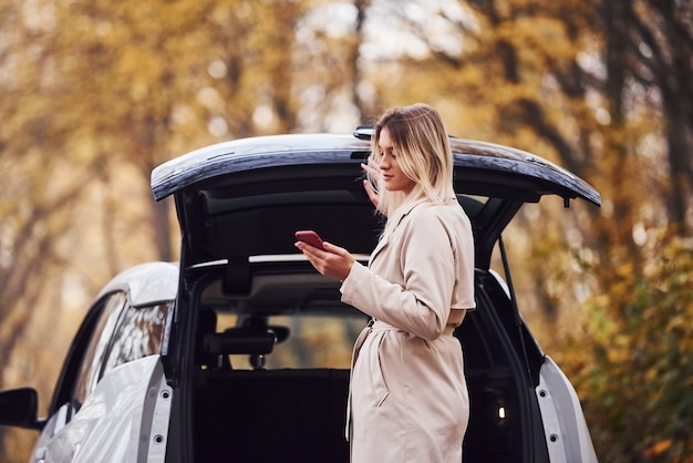
<svg viewBox="0 0 693 463"><path fill-rule="evenodd" d="M586 306L589 349L565 357L581 364L577 384L608 461L693 452L693 244L665 230L660 239L645 275L627 264L611 269L609 294Z"/></svg>

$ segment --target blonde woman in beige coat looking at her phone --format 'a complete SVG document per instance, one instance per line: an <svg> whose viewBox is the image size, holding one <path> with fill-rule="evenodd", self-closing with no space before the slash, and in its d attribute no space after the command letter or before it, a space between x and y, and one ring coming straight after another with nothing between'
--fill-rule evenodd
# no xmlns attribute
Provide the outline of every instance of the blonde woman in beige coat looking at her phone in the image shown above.
<svg viewBox="0 0 693 463"><path fill-rule="evenodd" d="M387 217L369 267L330 243L297 243L342 301L372 317L354 346L348 438L356 463L461 462L469 407L458 340L474 302L474 241L453 189L447 131L433 107L393 107L375 124L376 177L364 187Z"/></svg>

